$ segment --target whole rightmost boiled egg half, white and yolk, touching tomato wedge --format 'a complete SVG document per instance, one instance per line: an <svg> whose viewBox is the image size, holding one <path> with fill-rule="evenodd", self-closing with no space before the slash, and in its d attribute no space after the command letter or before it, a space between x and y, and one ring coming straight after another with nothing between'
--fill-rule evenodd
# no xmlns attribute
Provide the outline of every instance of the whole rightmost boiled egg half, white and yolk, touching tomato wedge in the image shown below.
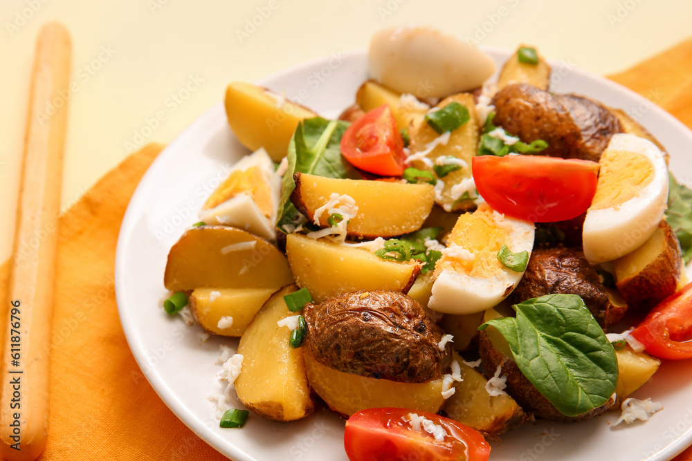
<svg viewBox="0 0 692 461"><path fill-rule="evenodd" d="M663 219L668 167L649 140L617 134L599 160L596 195L584 221L584 256L602 263L641 246Z"/></svg>

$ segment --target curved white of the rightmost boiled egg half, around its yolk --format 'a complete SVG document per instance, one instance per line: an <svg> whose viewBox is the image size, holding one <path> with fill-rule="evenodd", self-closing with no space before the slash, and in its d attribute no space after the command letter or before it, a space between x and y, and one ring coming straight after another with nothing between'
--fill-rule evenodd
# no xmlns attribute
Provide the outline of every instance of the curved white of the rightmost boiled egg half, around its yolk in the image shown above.
<svg viewBox="0 0 692 461"><path fill-rule="evenodd" d="M635 197L620 205L589 209L584 221L584 256L592 263L612 261L638 247L655 231L668 203L668 167L663 153L649 140L617 134L608 149L646 156L653 164L653 178Z"/></svg>

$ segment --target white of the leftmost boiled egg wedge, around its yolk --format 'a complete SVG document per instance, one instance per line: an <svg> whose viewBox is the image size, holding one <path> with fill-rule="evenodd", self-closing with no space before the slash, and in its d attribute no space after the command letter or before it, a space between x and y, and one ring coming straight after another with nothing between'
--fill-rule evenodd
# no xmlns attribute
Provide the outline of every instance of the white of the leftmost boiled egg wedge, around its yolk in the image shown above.
<svg viewBox="0 0 692 461"><path fill-rule="evenodd" d="M219 224L238 227L257 236L264 237L268 241L276 239L274 223L281 194L281 178L274 172L274 164L269 154L263 149L245 156L231 169L244 171L250 167L260 167L262 178L267 182L271 190L272 215L266 218L257 204L248 193L238 194L220 203L216 207L199 211L199 219L209 225Z"/></svg>

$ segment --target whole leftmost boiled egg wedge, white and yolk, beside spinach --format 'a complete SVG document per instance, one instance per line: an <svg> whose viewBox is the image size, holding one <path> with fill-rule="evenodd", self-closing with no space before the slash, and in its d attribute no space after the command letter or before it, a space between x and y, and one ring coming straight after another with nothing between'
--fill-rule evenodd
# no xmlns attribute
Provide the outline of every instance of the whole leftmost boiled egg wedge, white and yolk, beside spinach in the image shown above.
<svg viewBox="0 0 692 461"><path fill-rule="evenodd" d="M281 194L281 178L264 149L242 158L199 211L206 224L239 227L269 241Z"/></svg>

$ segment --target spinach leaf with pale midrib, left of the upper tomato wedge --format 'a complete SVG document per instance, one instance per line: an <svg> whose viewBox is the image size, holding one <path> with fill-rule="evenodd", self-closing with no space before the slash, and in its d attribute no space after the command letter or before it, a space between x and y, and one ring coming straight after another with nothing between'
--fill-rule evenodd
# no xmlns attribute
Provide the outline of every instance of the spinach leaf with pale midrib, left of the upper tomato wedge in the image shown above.
<svg viewBox="0 0 692 461"><path fill-rule="evenodd" d="M309 173L326 178L361 179L354 167L341 156L341 137L349 124L342 120L309 118L298 124L289 143L288 169L284 174L279 216L276 227L286 233L284 225L295 225L300 212L291 203L291 192L295 189L293 173Z"/></svg>

